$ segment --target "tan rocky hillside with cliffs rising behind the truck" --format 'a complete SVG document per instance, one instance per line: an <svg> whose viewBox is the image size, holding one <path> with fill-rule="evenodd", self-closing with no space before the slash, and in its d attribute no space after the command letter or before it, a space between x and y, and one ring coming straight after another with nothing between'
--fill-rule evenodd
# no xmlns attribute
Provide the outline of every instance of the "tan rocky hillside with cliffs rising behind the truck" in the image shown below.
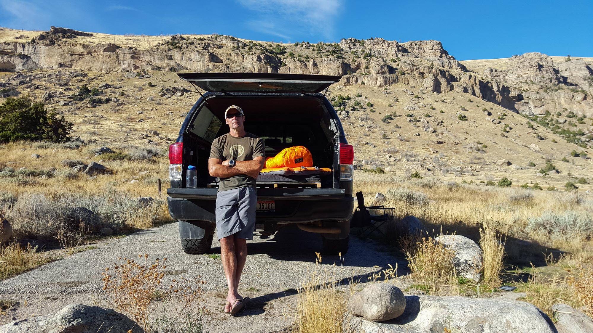
<svg viewBox="0 0 593 333"><path fill-rule="evenodd" d="M280 45L221 35L84 35L0 30L0 67L12 71L0 73L0 102L29 94L73 121L72 134L84 140L167 148L199 97L178 71L343 75L327 97L360 168L457 182L508 177L544 189L593 175L592 119L585 117L593 116L593 58L528 53L458 62L438 41ZM85 84L102 94L72 97ZM538 177L547 162L560 172Z"/></svg>

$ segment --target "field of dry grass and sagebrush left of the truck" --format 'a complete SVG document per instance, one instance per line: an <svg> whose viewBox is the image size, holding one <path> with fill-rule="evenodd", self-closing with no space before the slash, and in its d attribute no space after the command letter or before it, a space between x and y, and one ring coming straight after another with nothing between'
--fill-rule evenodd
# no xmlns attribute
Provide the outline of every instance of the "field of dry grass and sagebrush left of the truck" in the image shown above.
<svg viewBox="0 0 593 333"><path fill-rule="evenodd" d="M46 142L12 142L0 146L0 214L11 223L17 239L31 238L50 246L70 248L88 244L103 227L127 233L171 222L164 197L157 196L158 178L165 193L168 187L164 151L110 145L127 156L126 159L101 162L112 173L87 180L72 171L71 166L98 162L101 156L109 154L94 157L93 150L101 145L75 143L82 148L70 149L69 143ZM42 157L31 159L31 153ZM143 171L148 174L141 175ZM131 184L131 180L138 182ZM137 199L146 196L155 198L148 206ZM2 279L50 260L44 254L15 244L0 251Z"/></svg>

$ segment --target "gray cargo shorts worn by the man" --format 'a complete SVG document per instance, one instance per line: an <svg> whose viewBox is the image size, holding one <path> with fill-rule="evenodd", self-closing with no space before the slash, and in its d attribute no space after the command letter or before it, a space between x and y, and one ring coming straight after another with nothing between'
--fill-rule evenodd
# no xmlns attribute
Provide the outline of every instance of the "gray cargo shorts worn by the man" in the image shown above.
<svg viewBox="0 0 593 333"><path fill-rule="evenodd" d="M230 235L234 235L235 238L253 239L256 205L257 194L253 187L233 188L216 193L218 240Z"/></svg>

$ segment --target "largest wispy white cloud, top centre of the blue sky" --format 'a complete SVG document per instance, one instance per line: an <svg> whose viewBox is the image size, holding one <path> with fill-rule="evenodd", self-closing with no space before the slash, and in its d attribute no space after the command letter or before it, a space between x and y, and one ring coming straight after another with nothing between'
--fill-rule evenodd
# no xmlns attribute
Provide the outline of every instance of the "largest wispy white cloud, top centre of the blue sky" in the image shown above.
<svg viewBox="0 0 593 333"><path fill-rule="evenodd" d="M291 40L295 31L331 39L342 0L238 0L256 12L248 21L254 30Z"/></svg>

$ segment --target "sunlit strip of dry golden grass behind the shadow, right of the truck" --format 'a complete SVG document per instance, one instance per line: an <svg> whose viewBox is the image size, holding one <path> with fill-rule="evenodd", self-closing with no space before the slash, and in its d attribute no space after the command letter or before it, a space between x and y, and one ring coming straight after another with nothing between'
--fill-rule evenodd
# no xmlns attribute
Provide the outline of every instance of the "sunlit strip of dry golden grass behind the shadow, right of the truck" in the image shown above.
<svg viewBox="0 0 593 333"><path fill-rule="evenodd" d="M428 228L439 230L442 226L445 233L457 232L473 239L478 239L479 228L488 224L503 235L533 239L551 246L553 241L546 232L527 228L530 219L547 211L562 214L570 210L578 216L593 216L593 200L570 192L534 191L533 200L517 202L512 200L515 189L511 188L448 185L438 178L414 179L359 171L355 172L354 188L365 197L374 197L377 192L387 194L385 207L395 207L396 219L413 215ZM581 220L593 228L590 218ZM568 244L571 240L565 241ZM562 242L555 245L562 245Z"/></svg>

